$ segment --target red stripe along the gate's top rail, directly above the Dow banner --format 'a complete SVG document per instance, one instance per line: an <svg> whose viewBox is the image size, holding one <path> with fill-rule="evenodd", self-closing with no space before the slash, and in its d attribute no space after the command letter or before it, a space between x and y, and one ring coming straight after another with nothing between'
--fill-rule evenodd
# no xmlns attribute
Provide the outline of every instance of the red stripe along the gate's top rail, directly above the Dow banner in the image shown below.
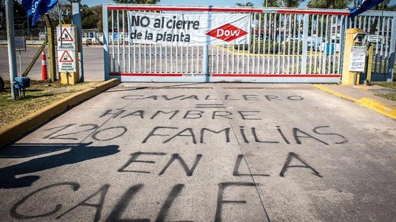
<svg viewBox="0 0 396 222"><path fill-rule="evenodd" d="M177 8L177 7L126 7L126 6L108 6L108 10L147 10L147 11L217 11L217 12L263 12L261 9L246 8Z"/></svg>

